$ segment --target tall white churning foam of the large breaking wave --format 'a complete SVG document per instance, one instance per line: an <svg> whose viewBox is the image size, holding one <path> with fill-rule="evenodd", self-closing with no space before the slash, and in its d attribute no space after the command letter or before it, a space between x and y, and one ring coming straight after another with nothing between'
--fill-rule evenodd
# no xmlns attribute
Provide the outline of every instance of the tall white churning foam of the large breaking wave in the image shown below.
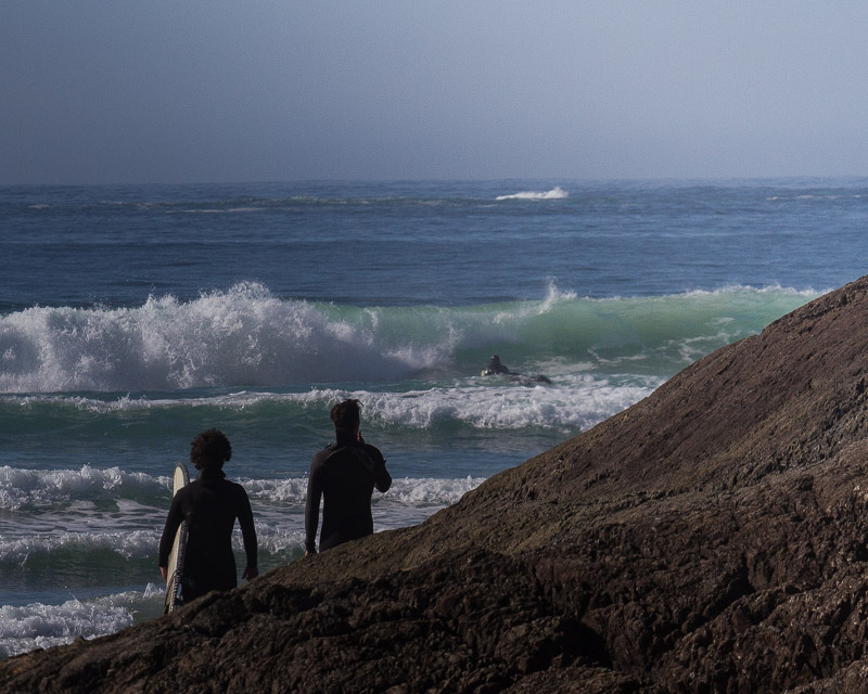
<svg viewBox="0 0 868 694"><path fill-rule="evenodd" d="M124 309L35 307L0 317L0 391L171 390L398 377L442 357L363 321L239 284Z"/></svg>

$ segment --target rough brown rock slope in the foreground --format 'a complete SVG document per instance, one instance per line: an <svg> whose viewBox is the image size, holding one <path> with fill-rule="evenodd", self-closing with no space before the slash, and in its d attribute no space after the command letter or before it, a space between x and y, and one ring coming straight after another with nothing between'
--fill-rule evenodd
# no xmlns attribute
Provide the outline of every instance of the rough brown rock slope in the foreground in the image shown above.
<svg viewBox="0 0 868 694"><path fill-rule="evenodd" d="M2 692L868 691L868 279L426 523L0 663Z"/></svg>

